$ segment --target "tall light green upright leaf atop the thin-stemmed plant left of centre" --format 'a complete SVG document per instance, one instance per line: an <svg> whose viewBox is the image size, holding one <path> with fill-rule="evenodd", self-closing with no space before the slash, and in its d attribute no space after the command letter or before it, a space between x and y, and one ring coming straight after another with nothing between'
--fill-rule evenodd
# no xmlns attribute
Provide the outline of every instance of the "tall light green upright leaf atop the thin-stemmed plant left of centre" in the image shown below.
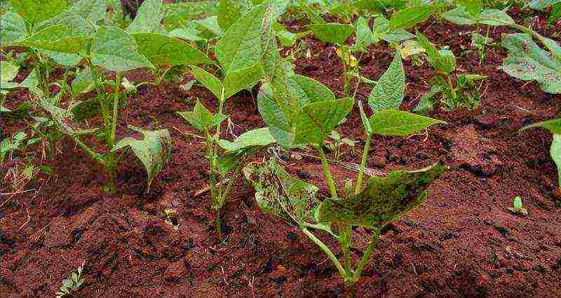
<svg viewBox="0 0 561 298"><path fill-rule="evenodd" d="M224 73L247 69L262 57L261 26L266 5L256 6L232 24L216 45Z"/></svg>

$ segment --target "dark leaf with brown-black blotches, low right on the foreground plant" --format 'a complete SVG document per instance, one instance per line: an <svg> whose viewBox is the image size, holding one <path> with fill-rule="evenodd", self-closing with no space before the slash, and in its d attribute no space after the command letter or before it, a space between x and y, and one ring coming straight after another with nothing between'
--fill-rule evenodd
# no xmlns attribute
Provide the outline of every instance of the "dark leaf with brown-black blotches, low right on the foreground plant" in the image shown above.
<svg viewBox="0 0 561 298"><path fill-rule="evenodd" d="M384 227L427 199L428 187L446 170L445 165L435 164L419 171L393 171L388 178L371 177L356 196L323 201L319 220Z"/></svg>

